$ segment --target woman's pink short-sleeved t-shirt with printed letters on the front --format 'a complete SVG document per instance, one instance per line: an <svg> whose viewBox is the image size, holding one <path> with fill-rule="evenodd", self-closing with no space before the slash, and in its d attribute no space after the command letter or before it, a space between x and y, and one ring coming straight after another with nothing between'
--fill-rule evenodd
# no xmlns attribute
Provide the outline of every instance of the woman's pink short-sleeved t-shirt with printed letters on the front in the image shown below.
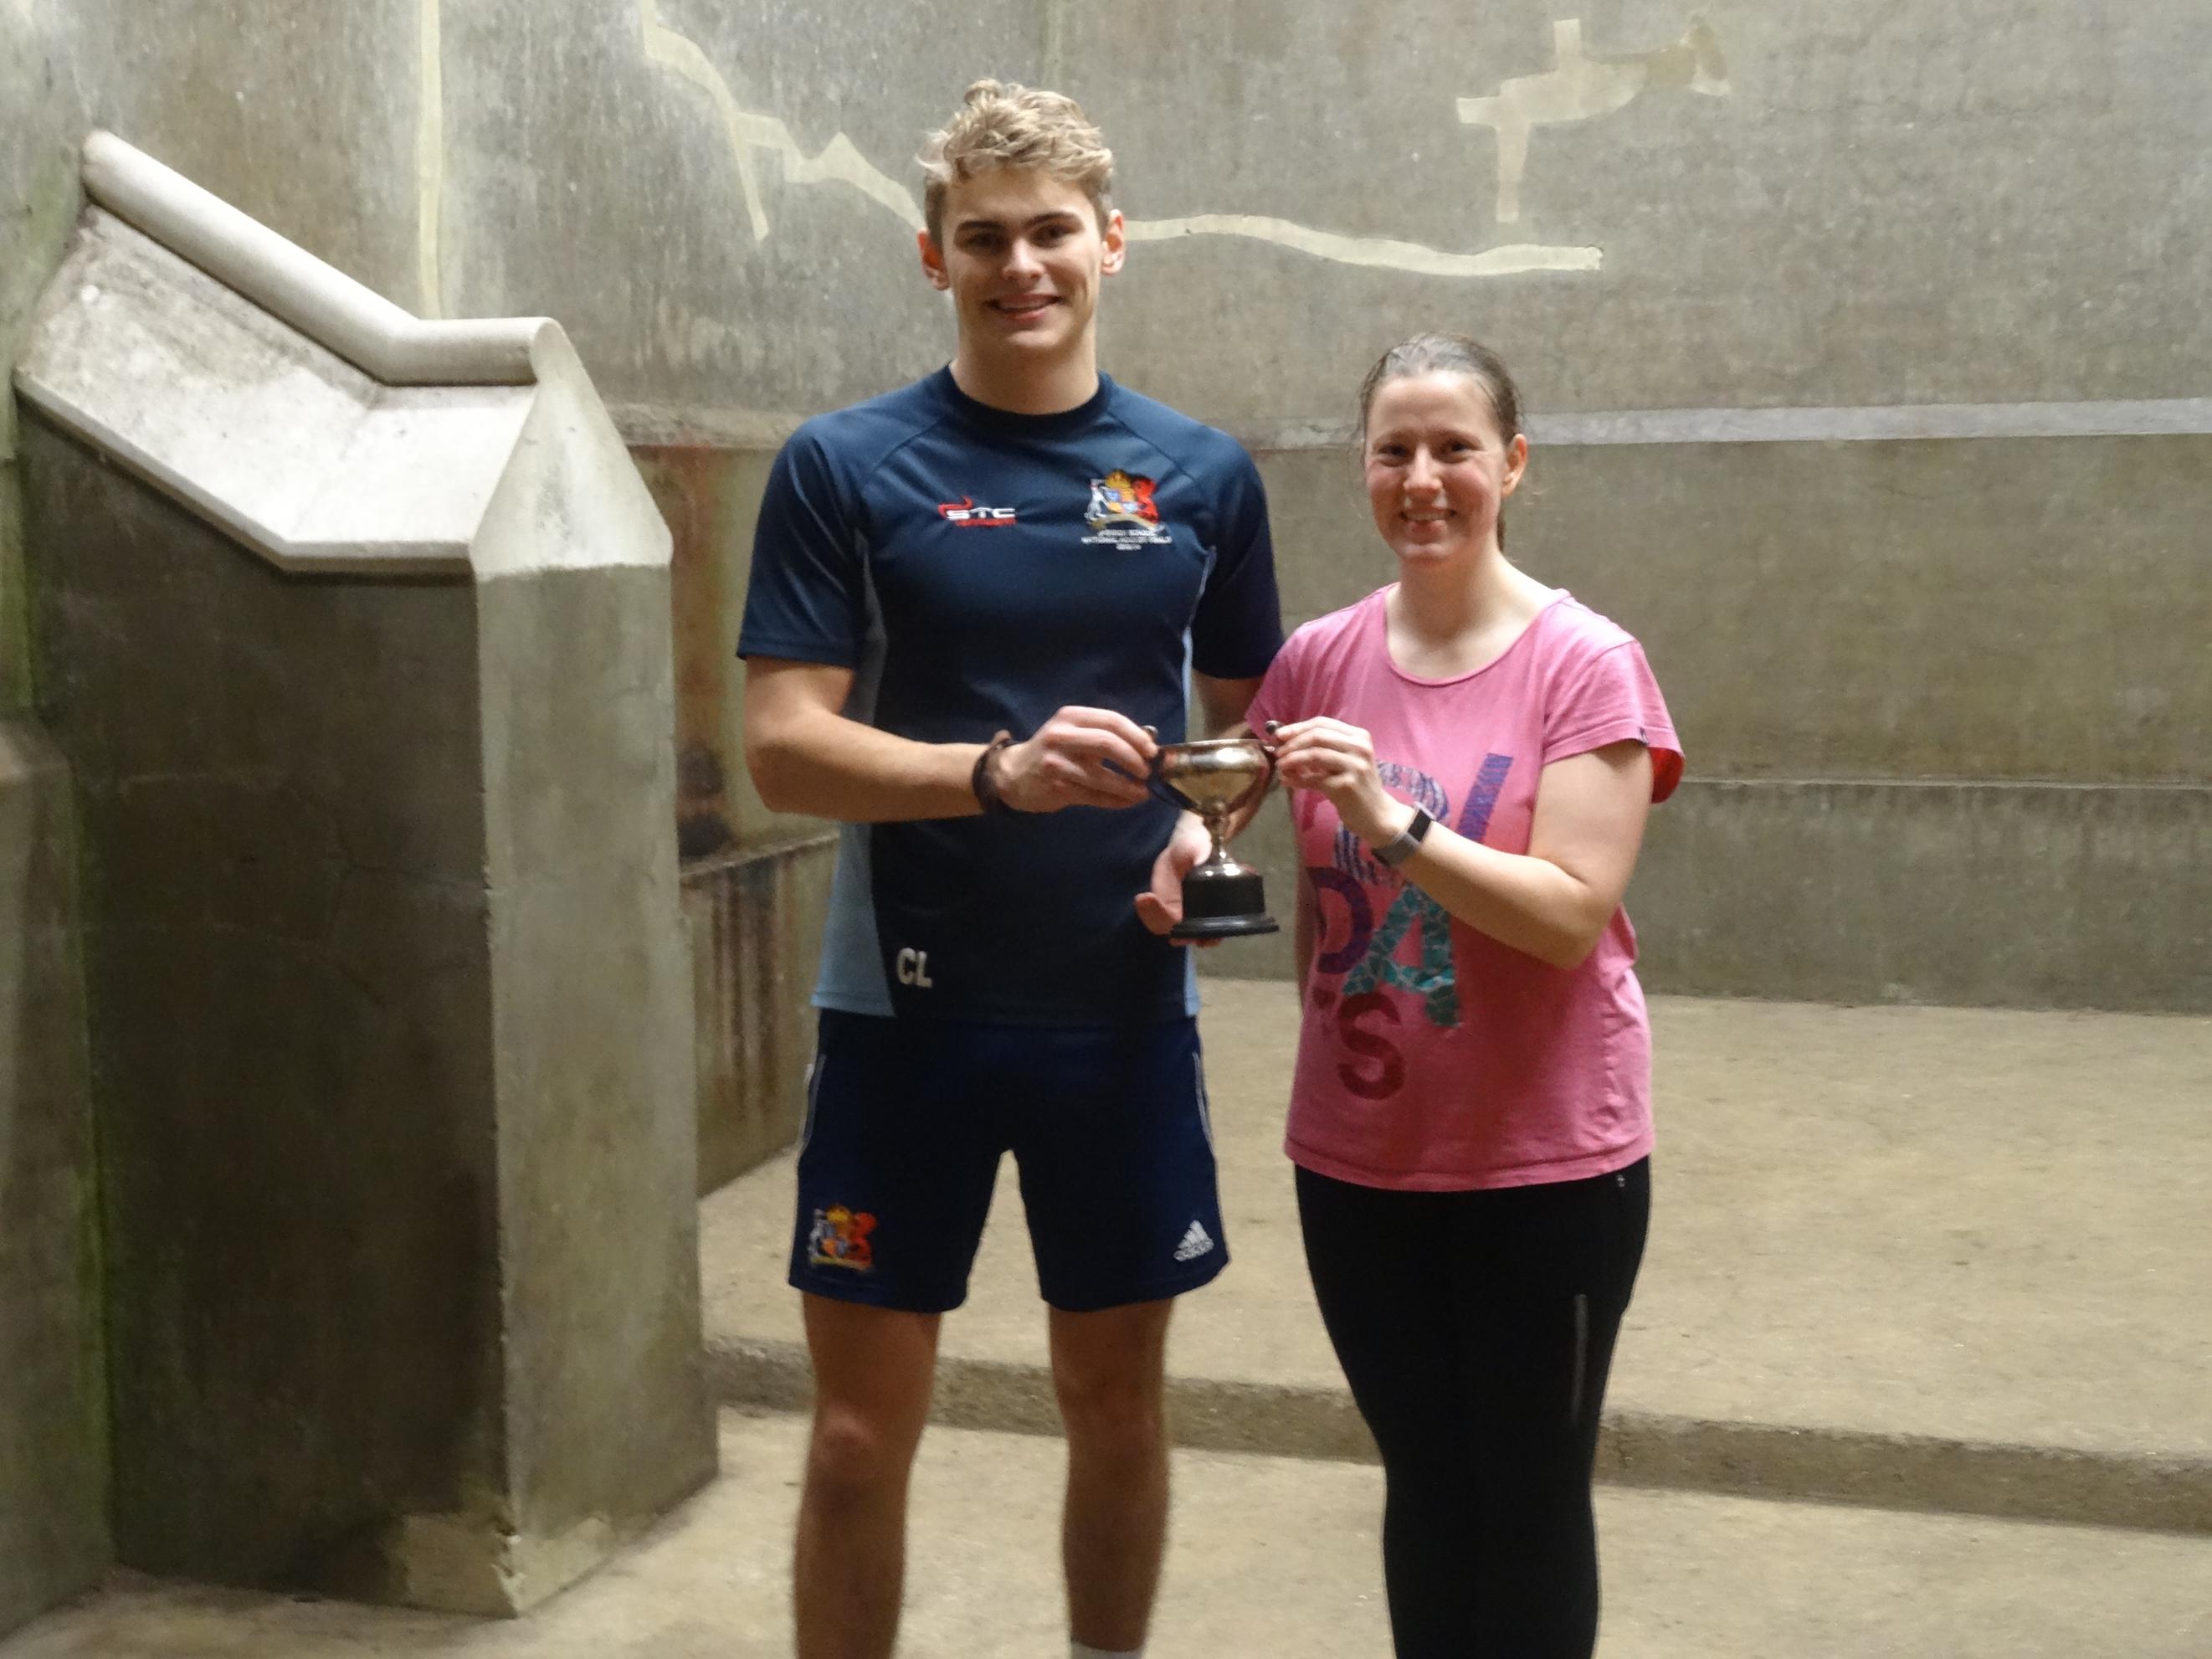
<svg viewBox="0 0 2212 1659"><path fill-rule="evenodd" d="M1652 799L1681 745L1637 641L1555 593L1502 657L1458 679L1402 672L1389 588L1298 628L1248 719L1332 714L1374 734L1383 785L1500 852L1528 852L1553 761L1637 739ZM1292 794L1318 907L1285 1150L1360 1186L1447 1192L1575 1181L1650 1150L1650 1024L1637 936L1615 911L1577 969L1464 922L1376 865L1316 790Z"/></svg>

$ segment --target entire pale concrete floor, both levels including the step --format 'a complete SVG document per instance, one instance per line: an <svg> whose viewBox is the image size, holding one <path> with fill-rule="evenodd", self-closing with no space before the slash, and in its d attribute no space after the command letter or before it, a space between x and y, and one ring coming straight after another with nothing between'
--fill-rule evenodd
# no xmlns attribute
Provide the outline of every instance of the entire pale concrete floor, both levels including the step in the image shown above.
<svg viewBox="0 0 2212 1659"><path fill-rule="evenodd" d="M1380 1475L1352 1460L1276 1146L1294 1015L1285 987L1208 984L1234 1265L1186 1301L1170 1369L1183 1438L1243 1451L1177 1453L1164 1657L1387 1652ZM1655 1024L1657 1214L1608 1444L1672 1489L1599 1489L1601 1655L2212 1657L2212 1020L1659 1000ZM703 1210L730 1402L805 1394L787 1217L783 1159ZM1048 1427L1042 1332L1002 1188L945 1329L949 1416ZM723 1478L520 1624L124 1577L0 1659L783 1655L801 1449L799 1418L726 1413ZM1062 1652L1057 1482L1048 1438L929 1433L902 1652ZM2013 1513L2126 1526L1989 1517Z"/></svg>

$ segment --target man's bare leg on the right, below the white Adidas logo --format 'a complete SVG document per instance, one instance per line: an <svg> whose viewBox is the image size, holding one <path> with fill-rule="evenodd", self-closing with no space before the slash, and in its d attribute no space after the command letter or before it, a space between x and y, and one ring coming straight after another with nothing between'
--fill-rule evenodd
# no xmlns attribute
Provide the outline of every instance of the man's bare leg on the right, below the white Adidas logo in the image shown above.
<svg viewBox="0 0 2212 1659"><path fill-rule="evenodd" d="M1053 1389L1068 1429L1068 1632L1099 1652L1137 1652L1152 1621L1168 1540L1161 1371L1172 1312L1172 1301L1051 1310Z"/></svg>

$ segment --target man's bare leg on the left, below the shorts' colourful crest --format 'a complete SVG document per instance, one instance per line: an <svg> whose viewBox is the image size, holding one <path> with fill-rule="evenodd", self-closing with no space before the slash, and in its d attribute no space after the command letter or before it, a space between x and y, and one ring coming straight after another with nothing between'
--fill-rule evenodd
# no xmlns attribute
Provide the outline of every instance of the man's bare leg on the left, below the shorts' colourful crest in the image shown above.
<svg viewBox="0 0 2212 1659"><path fill-rule="evenodd" d="M929 1418L938 1314L803 1296L814 1356L792 1559L799 1659L889 1659L907 1571L907 1475Z"/></svg>

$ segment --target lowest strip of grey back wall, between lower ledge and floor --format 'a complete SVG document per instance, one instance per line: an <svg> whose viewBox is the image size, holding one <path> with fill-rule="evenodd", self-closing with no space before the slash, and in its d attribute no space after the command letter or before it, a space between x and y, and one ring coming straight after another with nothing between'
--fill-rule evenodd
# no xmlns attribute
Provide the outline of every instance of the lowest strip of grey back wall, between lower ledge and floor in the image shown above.
<svg viewBox="0 0 2212 1659"><path fill-rule="evenodd" d="M1287 814L1239 838L1290 916ZM2212 1013L2212 787L1686 779L1628 889L1646 991ZM1287 978L1290 936L1208 951Z"/></svg>

